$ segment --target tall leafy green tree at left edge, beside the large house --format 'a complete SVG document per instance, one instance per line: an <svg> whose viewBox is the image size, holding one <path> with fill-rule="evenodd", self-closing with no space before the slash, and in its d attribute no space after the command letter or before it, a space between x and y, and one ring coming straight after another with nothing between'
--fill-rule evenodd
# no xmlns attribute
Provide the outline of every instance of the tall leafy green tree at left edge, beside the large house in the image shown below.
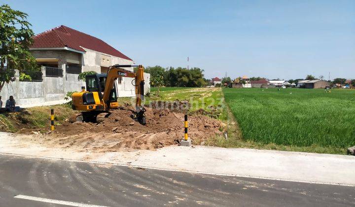
<svg viewBox="0 0 355 207"><path fill-rule="evenodd" d="M5 83L14 80L14 69L20 73L23 69L39 69L29 50L34 33L27 17L7 4L0 6L0 91ZM25 74L21 77L28 78Z"/></svg>

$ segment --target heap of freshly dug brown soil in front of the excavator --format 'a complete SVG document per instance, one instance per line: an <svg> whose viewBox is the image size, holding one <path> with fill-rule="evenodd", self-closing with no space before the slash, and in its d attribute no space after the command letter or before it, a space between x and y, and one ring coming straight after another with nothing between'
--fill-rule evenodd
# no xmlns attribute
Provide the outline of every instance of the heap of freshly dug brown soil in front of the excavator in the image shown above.
<svg viewBox="0 0 355 207"><path fill-rule="evenodd" d="M42 144L76 148L80 151L123 151L132 149L156 149L172 145L183 138L184 114L169 109L146 108L146 125L130 118L132 108L112 111L101 123L64 123L49 136L42 136ZM221 135L222 123L204 115L189 116L189 137L201 142Z"/></svg>

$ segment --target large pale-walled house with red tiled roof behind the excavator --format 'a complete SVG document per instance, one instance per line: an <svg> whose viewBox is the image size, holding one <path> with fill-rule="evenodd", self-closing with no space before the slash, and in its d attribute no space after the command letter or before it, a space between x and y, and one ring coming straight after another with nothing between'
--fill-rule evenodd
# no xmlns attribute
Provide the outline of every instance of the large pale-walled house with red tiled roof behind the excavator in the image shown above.
<svg viewBox="0 0 355 207"><path fill-rule="evenodd" d="M38 65L46 67L46 73L48 69L59 69L61 75L63 73L64 82L72 76L67 74L79 74L84 71L106 73L108 67L115 64L134 65L130 57L105 41L64 25L35 35L33 39L30 50ZM133 68L129 70L133 71ZM144 77L144 90L148 91L150 75L145 73ZM117 79L118 97L135 96L135 87L131 82L132 78L128 77ZM65 85L64 83L64 87Z"/></svg>

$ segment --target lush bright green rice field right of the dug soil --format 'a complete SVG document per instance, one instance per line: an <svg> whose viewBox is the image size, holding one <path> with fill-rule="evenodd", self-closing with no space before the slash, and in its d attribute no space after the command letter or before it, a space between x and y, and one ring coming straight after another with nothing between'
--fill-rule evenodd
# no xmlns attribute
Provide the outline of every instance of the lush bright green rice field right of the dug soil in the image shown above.
<svg viewBox="0 0 355 207"><path fill-rule="evenodd" d="M244 140L295 147L355 145L355 90L224 88Z"/></svg>

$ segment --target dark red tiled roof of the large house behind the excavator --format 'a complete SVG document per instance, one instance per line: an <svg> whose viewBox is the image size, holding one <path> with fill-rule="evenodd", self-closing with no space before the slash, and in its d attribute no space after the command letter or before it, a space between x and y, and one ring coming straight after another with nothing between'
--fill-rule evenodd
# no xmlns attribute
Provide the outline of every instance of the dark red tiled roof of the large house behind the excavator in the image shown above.
<svg viewBox="0 0 355 207"><path fill-rule="evenodd" d="M35 35L33 39L34 43L31 48L69 47L80 52L86 52L83 49L84 47L126 60L132 60L120 51L108 45L103 40L71 29L64 25Z"/></svg>

